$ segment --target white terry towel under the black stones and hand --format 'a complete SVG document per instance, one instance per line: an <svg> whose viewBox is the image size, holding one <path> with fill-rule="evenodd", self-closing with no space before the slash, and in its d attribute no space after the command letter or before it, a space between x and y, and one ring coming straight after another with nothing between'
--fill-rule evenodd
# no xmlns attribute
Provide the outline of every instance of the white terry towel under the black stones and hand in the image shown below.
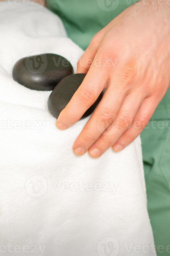
<svg viewBox="0 0 170 256"><path fill-rule="evenodd" d="M22 57L60 54L76 70L83 51L56 15L29 2L0 5L0 33L0 254L156 255L140 137L120 153L76 156L89 118L58 130L51 92L12 79Z"/></svg>

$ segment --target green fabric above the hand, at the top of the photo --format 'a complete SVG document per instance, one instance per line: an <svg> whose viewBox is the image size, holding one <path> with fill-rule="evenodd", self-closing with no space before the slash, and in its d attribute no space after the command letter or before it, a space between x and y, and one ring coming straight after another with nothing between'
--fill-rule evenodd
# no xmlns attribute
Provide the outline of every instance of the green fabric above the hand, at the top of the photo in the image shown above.
<svg viewBox="0 0 170 256"><path fill-rule="evenodd" d="M106 7L105 7L106 1ZM86 49L93 36L134 1L47 0L47 7L62 19L68 37Z"/></svg>

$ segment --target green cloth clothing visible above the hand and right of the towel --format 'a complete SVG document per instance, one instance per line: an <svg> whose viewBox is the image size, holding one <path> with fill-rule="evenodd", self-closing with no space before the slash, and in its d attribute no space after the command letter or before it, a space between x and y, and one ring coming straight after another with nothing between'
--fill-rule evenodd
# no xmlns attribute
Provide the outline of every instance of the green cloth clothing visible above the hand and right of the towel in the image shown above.
<svg viewBox="0 0 170 256"><path fill-rule="evenodd" d="M60 16L68 37L85 50L99 30L133 3L130 0L47 0L47 7ZM141 139L148 212L157 255L167 256L170 255L170 90Z"/></svg>

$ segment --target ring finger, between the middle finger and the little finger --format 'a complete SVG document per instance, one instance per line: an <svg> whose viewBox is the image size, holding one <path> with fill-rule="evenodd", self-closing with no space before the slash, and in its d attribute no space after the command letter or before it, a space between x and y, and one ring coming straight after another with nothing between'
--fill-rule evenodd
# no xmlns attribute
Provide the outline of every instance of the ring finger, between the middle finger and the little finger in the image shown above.
<svg viewBox="0 0 170 256"><path fill-rule="evenodd" d="M92 157L100 157L130 127L142 101L143 96L134 92L125 97L113 123L89 148L89 154Z"/></svg>

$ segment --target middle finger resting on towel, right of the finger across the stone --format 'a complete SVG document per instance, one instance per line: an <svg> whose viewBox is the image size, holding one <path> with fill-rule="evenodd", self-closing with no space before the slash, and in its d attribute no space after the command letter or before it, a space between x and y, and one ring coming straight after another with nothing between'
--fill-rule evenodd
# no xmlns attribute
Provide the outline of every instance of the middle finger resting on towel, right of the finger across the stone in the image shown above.
<svg viewBox="0 0 170 256"><path fill-rule="evenodd" d="M113 91L111 87L106 89L102 101L74 142L73 150L76 154L83 155L86 153L89 147L114 121L124 97L125 94L120 89L119 91L116 89Z"/></svg>

